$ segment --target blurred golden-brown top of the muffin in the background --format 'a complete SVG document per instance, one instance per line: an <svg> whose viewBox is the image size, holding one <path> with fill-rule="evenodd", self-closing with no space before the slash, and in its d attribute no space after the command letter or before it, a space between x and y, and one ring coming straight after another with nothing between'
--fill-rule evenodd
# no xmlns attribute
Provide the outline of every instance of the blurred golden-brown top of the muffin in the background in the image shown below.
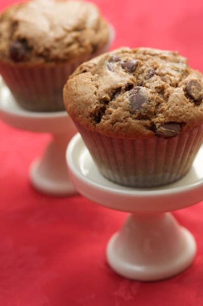
<svg viewBox="0 0 203 306"><path fill-rule="evenodd" d="M74 60L96 52L108 39L107 22L89 2L33 0L0 16L0 59L9 63Z"/></svg>

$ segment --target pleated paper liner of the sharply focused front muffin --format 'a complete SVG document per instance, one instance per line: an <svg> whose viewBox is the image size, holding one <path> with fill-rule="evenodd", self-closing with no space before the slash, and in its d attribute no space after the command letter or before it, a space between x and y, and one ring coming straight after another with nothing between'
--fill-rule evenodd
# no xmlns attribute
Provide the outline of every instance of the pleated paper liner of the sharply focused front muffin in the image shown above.
<svg viewBox="0 0 203 306"><path fill-rule="evenodd" d="M122 139L86 130L75 123L100 173L133 188L159 187L180 180L203 142L203 125L162 139Z"/></svg>

